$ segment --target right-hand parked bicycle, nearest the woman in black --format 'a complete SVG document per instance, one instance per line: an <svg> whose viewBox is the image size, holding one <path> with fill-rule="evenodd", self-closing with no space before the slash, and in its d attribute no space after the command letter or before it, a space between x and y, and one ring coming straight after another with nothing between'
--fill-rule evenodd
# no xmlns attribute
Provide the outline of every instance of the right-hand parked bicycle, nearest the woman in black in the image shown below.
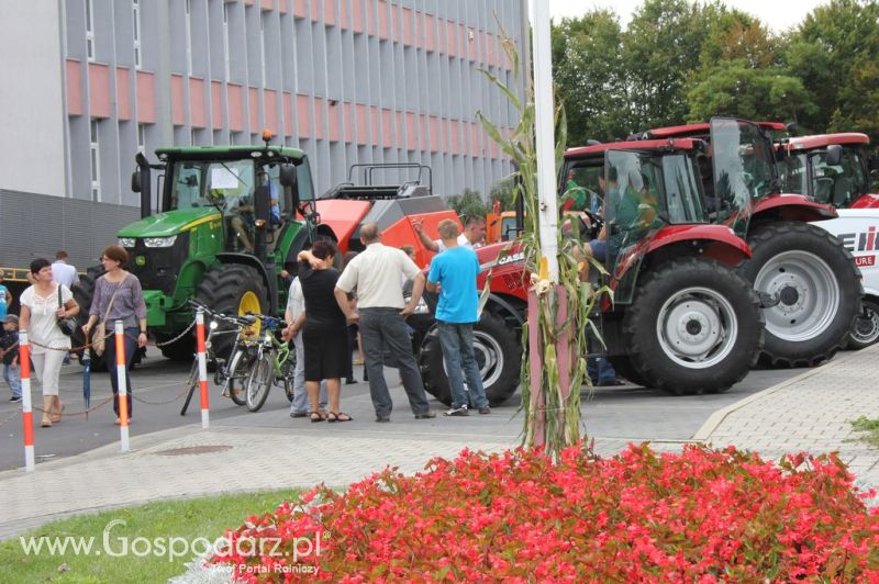
<svg viewBox="0 0 879 584"><path fill-rule="evenodd" d="M287 400L293 401L296 352L288 342L278 340L281 321L265 314L254 315L263 322L264 334L256 345L256 355L244 386L247 409L258 412L272 385L283 388Z"/></svg>

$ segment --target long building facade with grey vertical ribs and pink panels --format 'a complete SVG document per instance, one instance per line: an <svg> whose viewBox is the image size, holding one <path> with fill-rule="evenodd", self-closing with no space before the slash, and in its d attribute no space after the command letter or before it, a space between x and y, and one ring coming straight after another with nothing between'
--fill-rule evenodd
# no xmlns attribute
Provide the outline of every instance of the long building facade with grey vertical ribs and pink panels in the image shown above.
<svg viewBox="0 0 879 584"><path fill-rule="evenodd" d="M429 165L443 194L488 193L511 171L476 112L501 128L518 121L480 69L514 83L500 35L525 34L524 0L3 4L0 27L31 47L3 68L42 88L15 110L38 106L52 162L22 156L43 183L0 188L134 206L137 150L260 144L264 128L309 155L318 192L356 162ZM20 122L19 146L33 127Z"/></svg>

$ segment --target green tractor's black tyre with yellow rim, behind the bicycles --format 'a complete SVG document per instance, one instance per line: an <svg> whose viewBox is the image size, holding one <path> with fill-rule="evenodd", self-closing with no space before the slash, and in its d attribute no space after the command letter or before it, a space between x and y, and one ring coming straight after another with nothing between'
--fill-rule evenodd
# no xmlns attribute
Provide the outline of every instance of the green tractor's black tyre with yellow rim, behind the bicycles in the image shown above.
<svg viewBox="0 0 879 584"><path fill-rule="evenodd" d="M224 263L209 270L199 285L197 297L211 310L229 315L268 314L269 311L263 277L255 268L241 263ZM234 341L234 334L215 333L211 350L218 358L229 359Z"/></svg>

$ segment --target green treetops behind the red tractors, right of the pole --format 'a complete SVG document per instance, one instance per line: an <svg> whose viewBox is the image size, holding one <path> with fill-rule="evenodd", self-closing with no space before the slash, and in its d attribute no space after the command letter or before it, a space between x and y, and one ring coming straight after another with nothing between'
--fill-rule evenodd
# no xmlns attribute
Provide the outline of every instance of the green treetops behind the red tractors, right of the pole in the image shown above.
<svg viewBox="0 0 879 584"><path fill-rule="evenodd" d="M879 142L879 0L832 0L795 30L712 0L647 0L553 27L556 94L572 145L727 114Z"/></svg>

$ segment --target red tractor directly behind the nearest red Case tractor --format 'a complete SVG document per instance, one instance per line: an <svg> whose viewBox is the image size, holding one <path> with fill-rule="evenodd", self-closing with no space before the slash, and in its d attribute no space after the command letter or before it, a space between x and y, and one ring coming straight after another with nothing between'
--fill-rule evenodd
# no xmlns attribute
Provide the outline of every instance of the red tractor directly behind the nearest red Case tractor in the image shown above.
<svg viewBox="0 0 879 584"><path fill-rule="evenodd" d="M735 231L753 251L738 271L759 294L766 317L761 361L806 367L846 346L863 290L852 254L810 224L836 217L836 210L804 194L782 193L770 135L782 130L783 124L715 117L643 137L709 143L700 165L711 221Z"/></svg>

